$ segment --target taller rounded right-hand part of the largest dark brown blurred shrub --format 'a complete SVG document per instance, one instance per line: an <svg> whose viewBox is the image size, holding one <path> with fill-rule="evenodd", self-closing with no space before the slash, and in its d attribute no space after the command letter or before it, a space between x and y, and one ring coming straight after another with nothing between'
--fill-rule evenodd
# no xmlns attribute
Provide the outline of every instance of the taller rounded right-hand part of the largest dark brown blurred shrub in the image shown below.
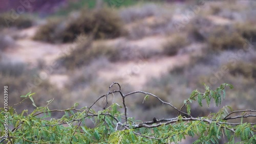
<svg viewBox="0 0 256 144"><path fill-rule="evenodd" d="M102 8L98 10L81 11L80 17L69 23L67 33L94 33L96 39L115 38L123 34L123 23L120 17L111 9ZM64 41L69 37L64 37ZM73 37L70 38L74 40Z"/></svg>

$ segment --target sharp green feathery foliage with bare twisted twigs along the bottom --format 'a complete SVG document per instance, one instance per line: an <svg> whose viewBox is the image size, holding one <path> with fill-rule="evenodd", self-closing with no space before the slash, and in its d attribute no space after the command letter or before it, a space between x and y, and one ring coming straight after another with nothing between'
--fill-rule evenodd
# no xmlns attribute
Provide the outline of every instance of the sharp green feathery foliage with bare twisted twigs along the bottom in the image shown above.
<svg viewBox="0 0 256 144"><path fill-rule="evenodd" d="M113 85L118 85L119 89L111 91ZM208 116L193 117L190 115L190 106L188 103L198 102L200 106L202 101L206 105L214 103L220 106L225 99L225 87L232 88L230 84L222 84L216 90L210 90L205 85L205 91L194 90L190 97L184 101L187 111L181 111L171 103L162 101L157 95L144 91L133 91L123 94L118 83L113 83L109 87L108 93L99 97L90 107L78 109L78 104L65 110L50 110L48 106L53 100L48 101L45 107L36 107L32 95L29 92L22 95L23 98L30 99L36 107L31 113L24 110L17 113L14 107L9 107L9 132L7 140L9 143L178 143L187 136L197 137L194 143L218 143L220 139L226 139L227 143L234 143L235 138L240 138L243 143L255 143L255 123L243 123L245 117L255 116L243 113L242 115L231 117L233 113L256 112L256 110L233 111L225 106L217 113L211 113ZM108 95L119 93L123 100L123 106L113 103L109 107L95 111L92 109L94 104L100 99L108 103ZM134 117L127 116L127 106L125 98L135 93L145 94L144 100L148 97L154 97L165 105L179 111L175 118L153 119L153 121L141 122ZM213 101L212 101L213 100ZM55 119L51 116L52 112L63 112L63 116ZM231 112L228 112L231 111ZM180 113L186 114L182 116ZM1 123L4 124L4 109L1 108ZM231 119L240 118L241 123L230 123ZM94 123L93 128L86 126L86 121ZM4 129L1 125L1 129ZM13 128L13 129L11 129ZM4 132L1 132L3 135ZM2 137L4 140L4 137Z"/></svg>

